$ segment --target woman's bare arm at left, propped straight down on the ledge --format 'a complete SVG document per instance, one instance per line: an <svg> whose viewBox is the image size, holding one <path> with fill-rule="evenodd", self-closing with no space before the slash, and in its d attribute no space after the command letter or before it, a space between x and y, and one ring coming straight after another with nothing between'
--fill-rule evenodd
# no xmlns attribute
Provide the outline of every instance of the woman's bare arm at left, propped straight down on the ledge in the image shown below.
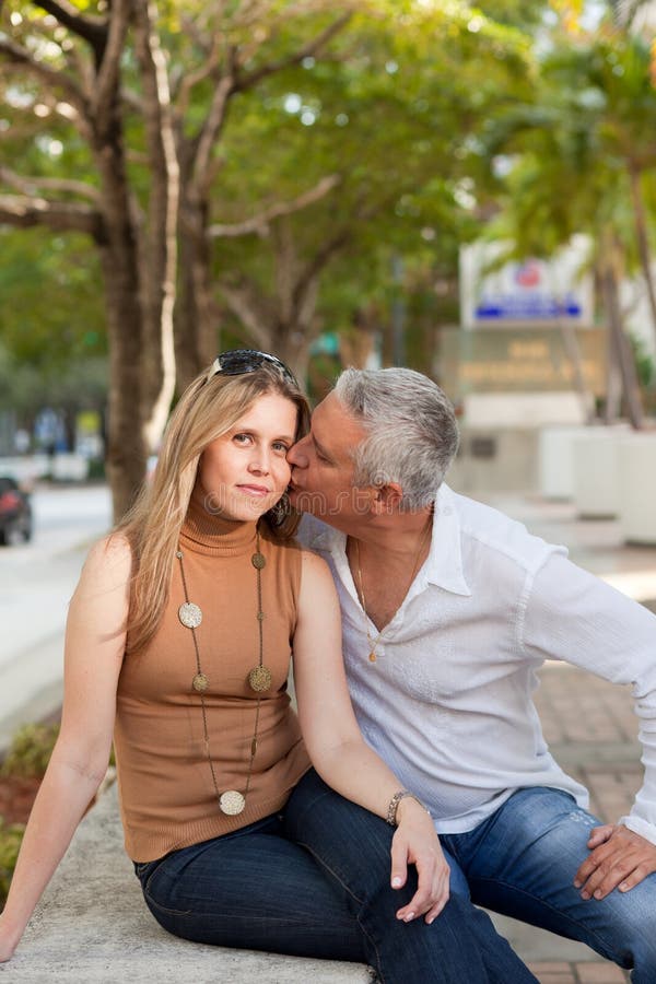
<svg viewBox="0 0 656 984"><path fill-rule="evenodd" d="M66 630L61 729L25 830L0 915L9 960L107 769L126 642L130 549L113 537L90 552Z"/></svg>

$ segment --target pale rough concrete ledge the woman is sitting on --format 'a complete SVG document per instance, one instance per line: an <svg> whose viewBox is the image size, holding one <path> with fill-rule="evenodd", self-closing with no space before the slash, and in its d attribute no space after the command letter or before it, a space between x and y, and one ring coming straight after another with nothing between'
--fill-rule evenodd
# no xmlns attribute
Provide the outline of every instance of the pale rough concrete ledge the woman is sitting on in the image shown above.
<svg viewBox="0 0 656 984"><path fill-rule="evenodd" d="M371 984L360 963L177 939L153 919L122 846L114 784L80 824L1 984Z"/></svg>

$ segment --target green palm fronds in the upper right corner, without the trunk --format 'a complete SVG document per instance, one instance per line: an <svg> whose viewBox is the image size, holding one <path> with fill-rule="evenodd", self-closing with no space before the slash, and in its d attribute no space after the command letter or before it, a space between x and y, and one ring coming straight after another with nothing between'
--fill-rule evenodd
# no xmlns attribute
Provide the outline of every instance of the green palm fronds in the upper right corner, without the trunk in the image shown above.
<svg viewBox="0 0 656 984"><path fill-rule="evenodd" d="M652 216L656 201L649 68L640 37L554 37L532 98L506 107L485 129L488 157L505 172L493 189L503 211L491 235L513 239L518 255L542 256L582 232L598 255L610 235L625 270L636 269L632 172L641 174Z"/></svg>

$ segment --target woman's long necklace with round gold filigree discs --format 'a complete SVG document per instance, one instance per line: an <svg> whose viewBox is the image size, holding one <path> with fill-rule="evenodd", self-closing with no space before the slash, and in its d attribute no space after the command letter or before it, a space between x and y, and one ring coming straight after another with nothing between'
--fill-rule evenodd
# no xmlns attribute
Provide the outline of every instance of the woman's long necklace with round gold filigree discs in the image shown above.
<svg viewBox="0 0 656 984"><path fill-rule="evenodd" d="M208 714L206 707L204 695L206 692L210 688L210 681L206 673L203 672L201 661L200 661L200 649L198 646L198 637L196 635L196 630L202 622L202 610L200 606L196 605L194 601L189 600L189 591L187 588L187 578L185 577L185 565L183 561L183 551L177 549L176 557L180 562L180 577L183 582L183 590L185 593L185 600L183 605L178 608L178 619L185 625L186 629L191 630L191 639L194 640L194 652L196 655L196 675L191 680L191 689L200 695L200 707L202 711L202 733L203 733L203 743L204 751L208 757L208 762L210 763L210 772L212 774L212 784L214 786L214 792L216 794L216 798L219 800L219 808L221 812L226 813L229 817L235 817L237 813L241 813L246 806L246 797L248 796L248 790L250 789L250 778L253 776L253 763L255 761L255 755L257 752L257 733L259 727L259 714L260 714L260 704L262 700L262 693L266 693L267 690L271 687L271 670L265 666L263 664L263 631L262 631L262 622L265 620L265 613L262 611L262 583L261 583L261 572L267 563L267 559L260 551L260 538L259 538L259 529L256 532L256 552L250 558L250 563L255 567L256 571L256 583L257 583L257 625L258 625L258 640L259 640L259 660L257 666L255 666L250 672L248 673L248 684L255 693L257 693L257 704L255 708L255 729L253 733L253 739L250 741L250 760L248 762L248 774L246 776L246 787L244 793L239 793L237 789L225 789L223 793L219 789L219 783L216 781L216 773L214 771L214 763L212 761L212 754L210 751L210 735L208 729Z"/></svg>

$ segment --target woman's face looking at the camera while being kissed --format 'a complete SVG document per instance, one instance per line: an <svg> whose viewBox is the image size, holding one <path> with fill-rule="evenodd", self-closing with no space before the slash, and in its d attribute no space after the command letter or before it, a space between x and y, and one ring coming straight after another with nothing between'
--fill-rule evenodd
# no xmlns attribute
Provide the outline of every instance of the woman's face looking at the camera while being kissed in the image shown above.
<svg viewBox="0 0 656 984"><path fill-rule="evenodd" d="M206 508L229 519L257 519L290 481L286 453L294 443L295 403L268 393L200 456L197 488Z"/></svg>

